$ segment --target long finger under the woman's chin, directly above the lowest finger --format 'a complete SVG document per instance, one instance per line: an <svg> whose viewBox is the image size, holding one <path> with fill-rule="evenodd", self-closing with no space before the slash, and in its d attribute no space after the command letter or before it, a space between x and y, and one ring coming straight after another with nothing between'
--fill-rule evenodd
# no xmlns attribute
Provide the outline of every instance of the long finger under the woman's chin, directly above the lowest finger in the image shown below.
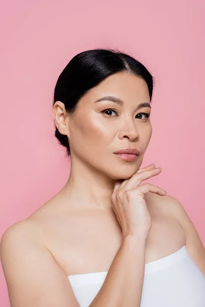
<svg viewBox="0 0 205 307"><path fill-rule="evenodd" d="M141 171L140 173L135 173L129 181L124 185L123 189L130 190L136 186L139 186L142 180L147 180L153 176L157 176L161 172L161 168L157 167L150 170ZM118 189L119 190L119 189Z"/></svg>

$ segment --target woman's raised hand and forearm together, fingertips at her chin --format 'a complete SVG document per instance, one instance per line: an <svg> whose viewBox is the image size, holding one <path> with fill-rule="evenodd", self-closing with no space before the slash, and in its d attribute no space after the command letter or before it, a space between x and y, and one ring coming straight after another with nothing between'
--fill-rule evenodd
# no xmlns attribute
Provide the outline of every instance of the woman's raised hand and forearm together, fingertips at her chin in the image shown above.
<svg viewBox="0 0 205 307"><path fill-rule="evenodd" d="M146 240L152 224L145 195L149 192L166 195L160 187L140 183L160 172L160 168L148 166L136 172L125 184L115 184L111 198L122 230L122 243L90 307L140 307Z"/></svg>

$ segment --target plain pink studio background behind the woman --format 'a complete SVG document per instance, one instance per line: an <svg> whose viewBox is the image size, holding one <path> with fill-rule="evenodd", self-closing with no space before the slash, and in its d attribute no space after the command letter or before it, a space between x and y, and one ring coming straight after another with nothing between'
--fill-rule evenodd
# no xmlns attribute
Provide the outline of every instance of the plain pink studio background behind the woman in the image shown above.
<svg viewBox="0 0 205 307"><path fill-rule="evenodd" d="M153 134L141 167L185 207L205 245L204 1L7 0L1 9L0 235L59 191L69 163L54 137L52 98L77 53L117 47L156 79ZM8 307L0 268L1 306ZM32 276L31 276L32 278Z"/></svg>

